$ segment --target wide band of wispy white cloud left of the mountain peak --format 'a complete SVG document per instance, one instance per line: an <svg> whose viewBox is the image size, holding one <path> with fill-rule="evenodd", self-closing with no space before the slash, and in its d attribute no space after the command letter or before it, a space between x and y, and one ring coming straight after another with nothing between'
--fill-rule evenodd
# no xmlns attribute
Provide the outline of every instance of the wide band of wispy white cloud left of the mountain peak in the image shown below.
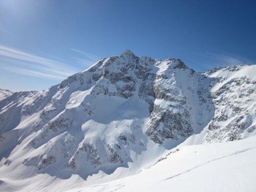
<svg viewBox="0 0 256 192"><path fill-rule="evenodd" d="M0 68L27 76L65 79L77 71L69 64L55 59L0 45Z"/></svg>

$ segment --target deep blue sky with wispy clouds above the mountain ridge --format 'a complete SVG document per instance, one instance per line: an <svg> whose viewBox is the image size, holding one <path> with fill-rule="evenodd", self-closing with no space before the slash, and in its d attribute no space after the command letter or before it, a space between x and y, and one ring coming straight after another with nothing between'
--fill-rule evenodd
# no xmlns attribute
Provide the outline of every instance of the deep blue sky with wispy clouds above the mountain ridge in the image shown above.
<svg viewBox="0 0 256 192"><path fill-rule="evenodd" d="M256 63L255 1L0 0L0 88L41 90L130 49L196 71Z"/></svg>

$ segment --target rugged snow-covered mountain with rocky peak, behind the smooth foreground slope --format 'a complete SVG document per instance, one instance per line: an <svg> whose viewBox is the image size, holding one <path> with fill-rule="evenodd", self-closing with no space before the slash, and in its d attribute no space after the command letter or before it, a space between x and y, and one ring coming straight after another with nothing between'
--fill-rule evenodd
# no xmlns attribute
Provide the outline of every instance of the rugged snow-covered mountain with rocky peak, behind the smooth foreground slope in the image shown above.
<svg viewBox="0 0 256 192"><path fill-rule="evenodd" d="M0 90L0 189L93 185L139 173L177 146L254 136L255 74L256 65L197 73L125 51L47 90Z"/></svg>

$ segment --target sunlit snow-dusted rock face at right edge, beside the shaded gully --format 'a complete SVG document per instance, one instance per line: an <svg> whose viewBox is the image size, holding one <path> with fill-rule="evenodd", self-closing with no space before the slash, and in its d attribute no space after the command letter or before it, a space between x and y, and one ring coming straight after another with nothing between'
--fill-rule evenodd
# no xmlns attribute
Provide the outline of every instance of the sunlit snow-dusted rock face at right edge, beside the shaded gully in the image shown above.
<svg viewBox="0 0 256 192"><path fill-rule="evenodd" d="M253 135L255 130L255 65L229 66L206 72L212 77L214 118L206 141L232 141Z"/></svg>

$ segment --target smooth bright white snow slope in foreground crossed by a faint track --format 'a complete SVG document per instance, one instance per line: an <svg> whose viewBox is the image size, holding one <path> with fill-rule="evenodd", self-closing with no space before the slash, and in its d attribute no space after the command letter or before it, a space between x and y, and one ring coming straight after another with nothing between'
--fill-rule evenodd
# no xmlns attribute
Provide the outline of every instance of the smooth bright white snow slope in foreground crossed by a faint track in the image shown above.
<svg viewBox="0 0 256 192"><path fill-rule="evenodd" d="M176 147L140 173L73 191L255 191L256 137Z"/></svg>

